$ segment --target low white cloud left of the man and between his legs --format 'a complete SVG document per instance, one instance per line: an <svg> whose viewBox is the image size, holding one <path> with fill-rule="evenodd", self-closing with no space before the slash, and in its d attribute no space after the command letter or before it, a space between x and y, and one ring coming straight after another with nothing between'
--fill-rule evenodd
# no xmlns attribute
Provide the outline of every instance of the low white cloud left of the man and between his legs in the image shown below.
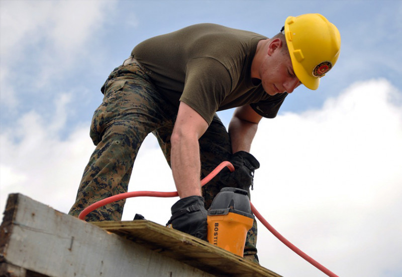
<svg viewBox="0 0 402 277"><path fill-rule="evenodd" d="M89 126L77 126L66 138L59 136L66 126L71 94L56 99L52 121L30 111L15 126L2 129L0 135L0 213L10 193L22 193L67 213L94 146ZM89 123L88 123L89 125ZM147 137L133 170L129 190L175 191L170 169L156 140ZM152 221L164 224L170 217L170 206L178 199L158 200L161 205L148 205L149 198L129 199L123 218L133 219L141 213ZM150 216L147 216L150 215Z"/></svg>

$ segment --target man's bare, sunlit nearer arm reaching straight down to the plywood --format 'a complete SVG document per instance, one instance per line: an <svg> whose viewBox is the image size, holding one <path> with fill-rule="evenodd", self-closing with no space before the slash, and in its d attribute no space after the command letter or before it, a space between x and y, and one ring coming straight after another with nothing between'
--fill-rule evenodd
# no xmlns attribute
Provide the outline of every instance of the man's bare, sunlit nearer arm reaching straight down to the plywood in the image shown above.
<svg viewBox="0 0 402 277"><path fill-rule="evenodd" d="M208 122L199 113L184 102L180 102L170 138L172 145L170 162L180 198L202 196L198 140L207 128Z"/></svg>

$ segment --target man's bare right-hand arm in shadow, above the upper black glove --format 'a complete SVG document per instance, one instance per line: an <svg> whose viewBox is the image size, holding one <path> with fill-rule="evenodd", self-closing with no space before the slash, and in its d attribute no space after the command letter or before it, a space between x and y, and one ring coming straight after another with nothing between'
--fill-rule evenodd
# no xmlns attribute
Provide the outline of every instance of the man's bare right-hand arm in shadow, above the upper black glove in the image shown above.
<svg viewBox="0 0 402 277"><path fill-rule="evenodd" d="M261 118L262 116L256 113L250 105L236 108L229 123L232 153L238 151L250 152L251 143Z"/></svg>

